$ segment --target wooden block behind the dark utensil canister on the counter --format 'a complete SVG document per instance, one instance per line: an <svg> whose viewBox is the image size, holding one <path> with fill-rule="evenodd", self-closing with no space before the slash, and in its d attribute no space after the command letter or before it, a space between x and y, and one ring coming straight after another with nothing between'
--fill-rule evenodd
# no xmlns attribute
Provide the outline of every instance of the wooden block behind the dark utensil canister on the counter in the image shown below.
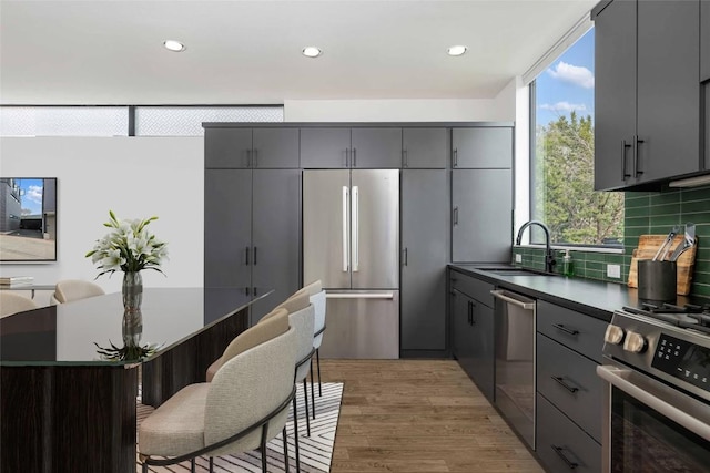
<svg viewBox="0 0 710 473"><path fill-rule="evenodd" d="M653 259L658 248L661 247L668 235L641 235L639 237L639 246L633 249L631 254L631 266L629 267L629 287L639 287L638 281L638 260L639 259ZM676 235L671 243L670 250L668 250L667 258L673 254L673 250L678 245L682 245L686 239L683 234ZM692 268L696 264L696 249L698 248L698 237L696 237L696 244L688 248L686 253L680 255L676 261L678 269L677 275L677 290L676 292L681 296L690 294L690 284L692 281ZM659 259L662 255L659 256Z"/></svg>

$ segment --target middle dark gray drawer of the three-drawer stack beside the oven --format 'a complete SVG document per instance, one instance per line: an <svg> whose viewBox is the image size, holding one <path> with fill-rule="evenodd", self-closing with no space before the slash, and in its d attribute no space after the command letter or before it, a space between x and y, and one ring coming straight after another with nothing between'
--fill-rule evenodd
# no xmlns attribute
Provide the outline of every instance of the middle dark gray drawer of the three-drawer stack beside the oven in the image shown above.
<svg viewBox="0 0 710 473"><path fill-rule="evenodd" d="M601 442L601 379L597 363L537 335L537 390Z"/></svg>

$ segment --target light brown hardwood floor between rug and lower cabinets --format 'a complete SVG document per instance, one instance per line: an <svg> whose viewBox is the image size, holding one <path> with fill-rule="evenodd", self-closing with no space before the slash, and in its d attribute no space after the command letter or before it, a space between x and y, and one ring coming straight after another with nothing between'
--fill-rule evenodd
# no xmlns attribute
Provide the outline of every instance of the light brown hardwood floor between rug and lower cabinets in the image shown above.
<svg viewBox="0 0 710 473"><path fill-rule="evenodd" d="M321 360L321 371L344 383L331 473L542 472L456 361Z"/></svg>

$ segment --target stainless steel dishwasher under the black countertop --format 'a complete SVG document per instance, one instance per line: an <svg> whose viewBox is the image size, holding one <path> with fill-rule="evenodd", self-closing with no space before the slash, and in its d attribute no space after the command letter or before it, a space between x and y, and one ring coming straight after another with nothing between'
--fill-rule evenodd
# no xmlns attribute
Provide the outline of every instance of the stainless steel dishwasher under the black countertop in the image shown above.
<svg viewBox="0 0 710 473"><path fill-rule="evenodd" d="M517 433L535 450L536 301L505 289L496 298L495 403Z"/></svg>

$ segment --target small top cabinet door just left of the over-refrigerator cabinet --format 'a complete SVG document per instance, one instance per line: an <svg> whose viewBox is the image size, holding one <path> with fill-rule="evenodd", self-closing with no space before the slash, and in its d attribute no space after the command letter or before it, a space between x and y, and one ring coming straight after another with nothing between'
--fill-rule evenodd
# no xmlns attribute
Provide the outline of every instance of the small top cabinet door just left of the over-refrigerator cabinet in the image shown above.
<svg viewBox="0 0 710 473"><path fill-rule="evenodd" d="M252 167L298 166L298 128L254 128Z"/></svg>

